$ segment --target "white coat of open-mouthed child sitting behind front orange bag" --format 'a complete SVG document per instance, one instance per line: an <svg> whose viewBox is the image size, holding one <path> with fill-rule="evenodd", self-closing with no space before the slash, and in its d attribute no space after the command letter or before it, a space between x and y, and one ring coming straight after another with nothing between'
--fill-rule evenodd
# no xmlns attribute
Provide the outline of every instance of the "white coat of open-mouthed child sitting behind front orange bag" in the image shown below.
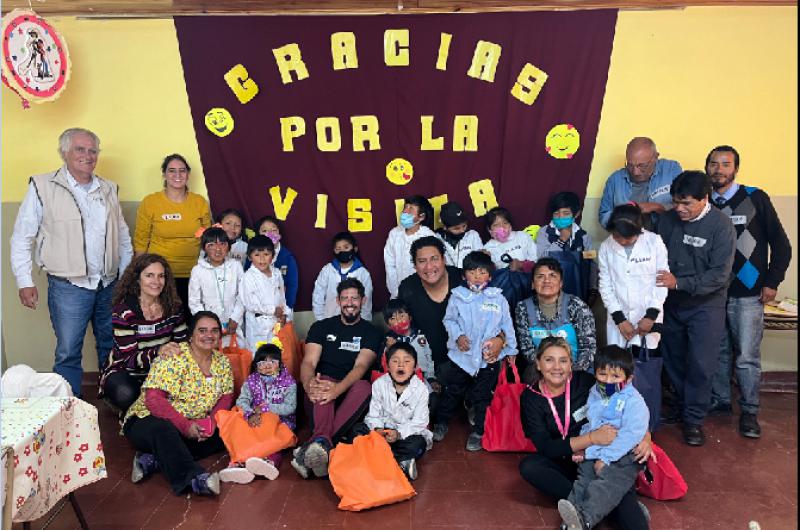
<svg viewBox="0 0 800 530"><path fill-rule="evenodd" d="M372 383L372 399L364 418L370 430L396 429L401 439L419 434L430 449L433 433L428 430L428 420L428 387L416 374L411 376L411 382L399 398L389 374Z"/></svg>

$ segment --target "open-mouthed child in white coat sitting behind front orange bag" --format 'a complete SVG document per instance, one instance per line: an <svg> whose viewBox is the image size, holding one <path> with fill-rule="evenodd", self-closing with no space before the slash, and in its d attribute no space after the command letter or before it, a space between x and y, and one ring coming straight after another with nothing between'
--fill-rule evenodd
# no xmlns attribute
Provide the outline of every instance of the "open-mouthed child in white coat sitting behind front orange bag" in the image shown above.
<svg viewBox="0 0 800 530"><path fill-rule="evenodd" d="M378 431L392 448L395 460L408 476L417 478L417 459L433 445L428 430L428 388L414 375L417 352L405 342L386 350L389 373L372 383L372 400L356 434Z"/></svg>

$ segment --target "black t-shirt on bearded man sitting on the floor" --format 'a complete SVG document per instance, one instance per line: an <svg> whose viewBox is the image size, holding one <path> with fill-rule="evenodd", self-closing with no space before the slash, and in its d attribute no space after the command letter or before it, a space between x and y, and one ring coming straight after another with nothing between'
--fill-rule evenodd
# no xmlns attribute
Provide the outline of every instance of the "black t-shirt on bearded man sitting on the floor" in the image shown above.
<svg viewBox="0 0 800 530"><path fill-rule="evenodd" d="M364 319L348 326L337 315L314 322L306 342L322 346L317 372L341 381L353 369L359 352L367 349L377 354L382 339L378 328Z"/></svg>

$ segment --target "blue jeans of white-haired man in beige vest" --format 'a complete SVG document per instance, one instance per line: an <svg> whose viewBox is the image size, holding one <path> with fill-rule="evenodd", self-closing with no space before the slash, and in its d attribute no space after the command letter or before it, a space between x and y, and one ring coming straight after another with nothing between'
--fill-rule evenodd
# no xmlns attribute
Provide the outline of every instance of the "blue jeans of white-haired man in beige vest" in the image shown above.
<svg viewBox="0 0 800 530"><path fill-rule="evenodd" d="M76 287L55 276L47 276L47 307L56 334L56 362L53 371L67 380L72 393L81 395L83 339L92 323L97 343L97 365L103 370L114 336L111 327L111 295L116 281L96 290Z"/></svg>

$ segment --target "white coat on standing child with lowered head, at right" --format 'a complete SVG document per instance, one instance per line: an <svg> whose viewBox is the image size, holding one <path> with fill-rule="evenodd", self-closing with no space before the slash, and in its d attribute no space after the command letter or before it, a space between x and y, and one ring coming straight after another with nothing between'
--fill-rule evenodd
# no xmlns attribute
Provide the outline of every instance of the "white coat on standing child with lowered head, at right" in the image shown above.
<svg viewBox="0 0 800 530"><path fill-rule="evenodd" d="M659 270L669 270L667 248L661 237L645 230L633 246L630 257L625 249L611 236L603 241L598 252L600 268L599 290L603 305L608 310L606 337L609 344L627 345L611 314L622 311L628 321L636 324L644 317L649 307L659 310L656 322L664 321L664 300L667 288L656 287ZM647 347L658 347L659 333L647 335ZM634 337L631 344L641 346L641 338Z"/></svg>

